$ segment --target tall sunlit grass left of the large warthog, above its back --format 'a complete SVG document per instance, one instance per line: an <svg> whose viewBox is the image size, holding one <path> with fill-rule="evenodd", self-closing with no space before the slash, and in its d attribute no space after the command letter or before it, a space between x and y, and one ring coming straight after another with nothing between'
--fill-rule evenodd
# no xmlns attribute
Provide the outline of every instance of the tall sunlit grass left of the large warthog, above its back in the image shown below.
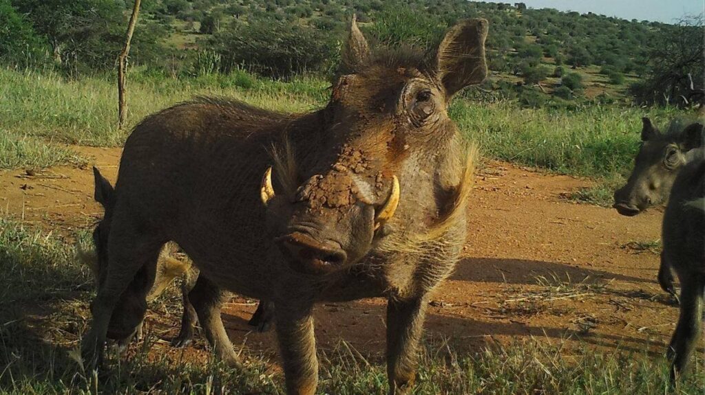
<svg viewBox="0 0 705 395"><path fill-rule="evenodd" d="M285 112L310 110L326 83L256 79L243 71L193 79L128 76L128 124L117 128L117 90L110 76L66 80L55 72L0 69L0 130L78 145L117 146L145 116L195 96L225 96Z"/></svg>

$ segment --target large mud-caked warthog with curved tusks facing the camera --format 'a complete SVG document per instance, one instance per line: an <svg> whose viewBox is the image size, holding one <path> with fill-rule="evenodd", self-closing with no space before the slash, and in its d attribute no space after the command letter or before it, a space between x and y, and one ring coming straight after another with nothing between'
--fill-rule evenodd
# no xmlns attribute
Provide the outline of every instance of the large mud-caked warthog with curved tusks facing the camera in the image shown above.
<svg viewBox="0 0 705 395"><path fill-rule="evenodd" d="M221 288L274 302L289 394L317 387L314 303L387 297L389 392L409 391L429 292L465 242L473 150L447 108L486 77L486 33L486 20L460 22L424 60L370 51L353 20L321 110L202 98L142 121L123 151L85 361L141 322L128 295L173 240L200 269L200 303ZM219 317L199 320L227 340Z"/></svg>

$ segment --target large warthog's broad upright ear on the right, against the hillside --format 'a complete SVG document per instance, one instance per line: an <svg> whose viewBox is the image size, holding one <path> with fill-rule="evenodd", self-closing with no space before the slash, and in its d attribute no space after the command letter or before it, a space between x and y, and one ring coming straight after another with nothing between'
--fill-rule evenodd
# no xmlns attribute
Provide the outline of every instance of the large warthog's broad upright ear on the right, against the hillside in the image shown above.
<svg viewBox="0 0 705 395"><path fill-rule="evenodd" d="M436 56L436 73L448 98L487 77L484 40L488 26L484 19L463 20L441 41Z"/></svg>

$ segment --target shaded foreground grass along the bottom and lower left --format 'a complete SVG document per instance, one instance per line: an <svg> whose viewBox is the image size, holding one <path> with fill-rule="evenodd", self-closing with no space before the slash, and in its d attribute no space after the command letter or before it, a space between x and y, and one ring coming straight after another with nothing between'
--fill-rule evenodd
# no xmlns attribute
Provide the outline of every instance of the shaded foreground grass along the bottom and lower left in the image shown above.
<svg viewBox="0 0 705 395"><path fill-rule="evenodd" d="M128 357L109 353L99 377L81 370L76 350L93 295L87 268L74 259L73 239L0 219L0 394L283 394L272 361L245 349L246 369L215 361L181 361L159 353L147 332ZM537 278L556 292L592 290L587 281ZM160 304L178 301L176 288ZM178 323L178 309L157 305ZM171 310L171 313L166 313ZM414 394L657 394L666 393L668 369L661 357L531 339L490 344L474 353L452 339L427 339L420 352ZM348 343L320 351L321 394L386 394L384 361L362 356ZM674 394L701 391L701 362Z"/></svg>

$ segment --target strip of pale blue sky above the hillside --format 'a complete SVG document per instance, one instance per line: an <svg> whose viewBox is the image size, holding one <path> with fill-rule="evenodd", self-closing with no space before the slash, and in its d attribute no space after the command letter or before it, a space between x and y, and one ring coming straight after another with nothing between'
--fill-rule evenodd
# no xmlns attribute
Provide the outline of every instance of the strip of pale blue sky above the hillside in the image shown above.
<svg viewBox="0 0 705 395"><path fill-rule="evenodd" d="M486 0L488 1L488 0ZM699 15L705 0L504 0L493 3L522 2L529 8L556 8L559 11L577 11L615 16L627 20L650 20L674 23L685 14Z"/></svg>

